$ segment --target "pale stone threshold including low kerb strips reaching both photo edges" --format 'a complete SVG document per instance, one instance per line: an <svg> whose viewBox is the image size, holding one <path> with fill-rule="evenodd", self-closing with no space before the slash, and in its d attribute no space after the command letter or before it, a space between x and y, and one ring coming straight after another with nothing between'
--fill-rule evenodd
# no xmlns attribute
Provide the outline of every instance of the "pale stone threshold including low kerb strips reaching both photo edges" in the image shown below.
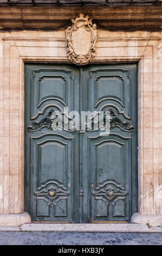
<svg viewBox="0 0 162 256"><path fill-rule="evenodd" d="M146 224L133 223L30 223L21 227L0 226L1 231L83 231L83 232L162 232L162 227L148 228Z"/></svg>

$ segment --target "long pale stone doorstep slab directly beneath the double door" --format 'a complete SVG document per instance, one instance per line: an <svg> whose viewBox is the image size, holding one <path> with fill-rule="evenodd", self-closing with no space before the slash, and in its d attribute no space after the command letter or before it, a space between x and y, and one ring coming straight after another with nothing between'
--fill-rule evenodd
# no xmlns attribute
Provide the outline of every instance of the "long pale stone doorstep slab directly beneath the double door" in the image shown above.
<svg viewBox="0 0 162 256"><path fill-rule="evenodd" d="M125 232L149 232L150 229L146 224L132 223L80 223L80 224L23 224L22 231L125 231Z"/></svg>

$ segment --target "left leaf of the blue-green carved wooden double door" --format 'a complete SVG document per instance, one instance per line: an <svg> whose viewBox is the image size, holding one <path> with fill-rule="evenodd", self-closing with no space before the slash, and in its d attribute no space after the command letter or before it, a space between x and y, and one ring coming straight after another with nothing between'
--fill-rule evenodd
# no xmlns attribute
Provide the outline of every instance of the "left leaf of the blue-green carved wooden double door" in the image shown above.
<svg viewBox="0 0 162 256"><path fill-rule="evenodd" d="M74 221L78 135L51 124L54 111L78 110L76 84L79 70L69 65L25 66L25 210L33 221Z"/></svg>

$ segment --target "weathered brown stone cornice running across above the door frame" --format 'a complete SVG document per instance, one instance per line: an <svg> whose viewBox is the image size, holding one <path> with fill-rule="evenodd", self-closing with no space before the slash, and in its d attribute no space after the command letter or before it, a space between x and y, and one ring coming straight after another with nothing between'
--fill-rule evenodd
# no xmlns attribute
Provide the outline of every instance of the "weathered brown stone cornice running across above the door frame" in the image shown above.
<svg viewBox="0 0 162 256"><path fill-rule="evenodd" d="M109 31L161 31L162 5L142 7L23 7L0 6L0 30L66 29L80 13L89 15L98 28Z"/></svg>

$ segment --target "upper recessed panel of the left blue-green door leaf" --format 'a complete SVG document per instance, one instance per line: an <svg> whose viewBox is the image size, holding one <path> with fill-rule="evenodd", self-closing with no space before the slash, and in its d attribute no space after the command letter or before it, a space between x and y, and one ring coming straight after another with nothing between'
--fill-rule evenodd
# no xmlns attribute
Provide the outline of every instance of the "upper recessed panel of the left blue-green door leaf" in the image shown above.
<svg viewBox="0 0 162 256"><path fill-rule="evenodd" d="M66 69L33 69L31 76L31 119L55 106L63 111L73 106L73 71Z"/></svg>

